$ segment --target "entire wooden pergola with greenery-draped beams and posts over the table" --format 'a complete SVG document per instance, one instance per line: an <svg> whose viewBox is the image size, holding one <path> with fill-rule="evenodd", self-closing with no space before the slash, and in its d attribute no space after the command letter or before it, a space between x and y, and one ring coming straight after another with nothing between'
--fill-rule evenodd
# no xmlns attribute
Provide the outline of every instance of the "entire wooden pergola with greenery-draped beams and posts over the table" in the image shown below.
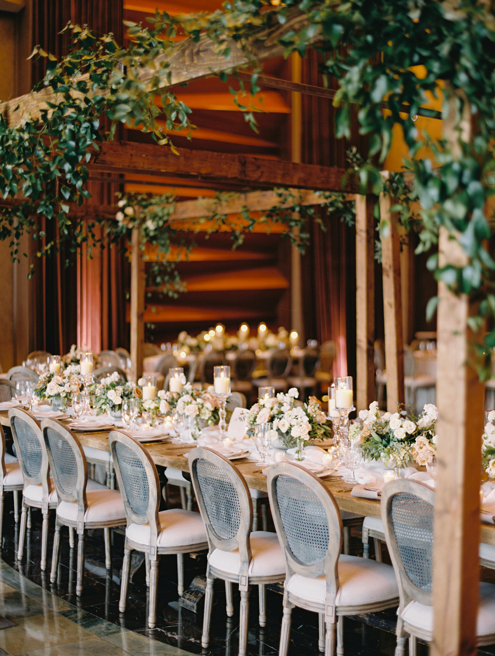
<svg viewBox="0 0 495 656"><path fill-rule="evenodd" d="M283 31L294 27L294 18L279 26L264 40L254 41L251 49L260 61L283 53L277 42ZM299 27L301 27L299 25ZM248 64L247 57L232 43L229 58L218 56L210 41L185 41L168 57L171 84L205 77L222 70L235 70ZM143 70L148 83L155 72ZM245 73L244 73L245 75ZM291 87L287 86L292 85ZM318 96L331 94L325 89L276 81L272 86ZM9 125L39 117L45 102L56 102L51 89L16 98L0 106ZM454 107L452 106L452 116ZM448 121L445 123L448 127ZM454 132L452 130L452 140ZM167 174L231 188L256 189L222 207L222 213L235 213L241 207L263 211L274 204L274 187L290 187L304 192L304 202L317 204L322 199L312 190L345 192L353 195L356 209L356 306L357 306L357 407L363 409L374 400L374 220L376 197L359 195L352 184L342 186L344 171L328 167L271 161L245 155L181 150L179 156L167 148L125 142L106 142L94 152L91 171L106 173ZM177 203L171 220L208 215L211 201ZM400 241L397 226L390 216L390 199L380 197L382 220L390 230L382 236L384 319L387 361L387 409L396 411L404 401L403 325ZM109 214L113 209L107 208ZM441 232L440 258L444 263L462 261L464 254L446 232ZM131 356L132 377L142 373L144 342L144 262L138 229L132 233L131 265ZM439 443L439 480L435 509L435 545L433 564L433 605L435 615L432 653L442 655L474 654L478 598L479 544L479 436L483 432L483 385L468 364L467 328L470 308L467 298L452 294L439 284L437 422ZM472 445L472 446L471 446Z"/></svg>

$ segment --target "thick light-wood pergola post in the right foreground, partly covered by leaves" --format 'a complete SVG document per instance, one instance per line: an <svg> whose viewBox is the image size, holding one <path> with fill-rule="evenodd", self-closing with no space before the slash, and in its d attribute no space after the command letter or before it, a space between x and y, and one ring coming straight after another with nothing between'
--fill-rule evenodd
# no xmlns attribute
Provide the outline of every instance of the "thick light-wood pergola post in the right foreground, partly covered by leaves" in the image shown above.
<svg viewBox="0 0 495 656"><path fill-rule="evenodd" d="M459 93L462 95L462 92ZM469 141L469 102L464 95L462 138ZM458 145L456 99L444 133L452 152ZM439 266L465 266L467 256L455 239L441 228ZM437 494L433 545L432 656L474 655L479 596L479 483L484 390L469 367L467 327L473 310L469 299L456 296L439 283L437 312Z"/></svg>

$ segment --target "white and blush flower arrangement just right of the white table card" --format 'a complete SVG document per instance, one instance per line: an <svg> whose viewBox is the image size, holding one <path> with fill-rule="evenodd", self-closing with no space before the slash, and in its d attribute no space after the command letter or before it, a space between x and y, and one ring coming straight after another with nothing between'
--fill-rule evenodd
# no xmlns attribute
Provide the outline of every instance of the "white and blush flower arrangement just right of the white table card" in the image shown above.
<svg viewBox="0 0 495 656"><path fill-rule="evenodd" d="M271 422L271 440L281 440L285 447L292 448L302 442L307 446L312 440L321 440L330 436L327 415L321 410L319 401L309 397L305 405L294 406L299 392L295 387L287 394L279 392L276 398L260 399L249 411L247 434L254 435L254 426Z"/></svg>

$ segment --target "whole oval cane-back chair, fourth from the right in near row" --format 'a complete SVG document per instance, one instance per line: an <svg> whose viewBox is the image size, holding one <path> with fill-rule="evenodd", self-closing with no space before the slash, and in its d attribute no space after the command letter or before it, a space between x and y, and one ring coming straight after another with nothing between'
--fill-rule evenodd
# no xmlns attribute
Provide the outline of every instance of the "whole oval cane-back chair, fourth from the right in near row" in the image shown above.
<svg viewBox="0 0 495 656"><path fill-rule="evenodd" d="M156 624L159 556L177 554L178 593L184 592L184 554L208 547L201 515L171 508L158 512L160 484L157 468L147 449L125 432L112 430L109 443L127 517L119 611L125 611L132 550L149 562L148 626ZM147 577L148 578L148 577Z"/></svg>

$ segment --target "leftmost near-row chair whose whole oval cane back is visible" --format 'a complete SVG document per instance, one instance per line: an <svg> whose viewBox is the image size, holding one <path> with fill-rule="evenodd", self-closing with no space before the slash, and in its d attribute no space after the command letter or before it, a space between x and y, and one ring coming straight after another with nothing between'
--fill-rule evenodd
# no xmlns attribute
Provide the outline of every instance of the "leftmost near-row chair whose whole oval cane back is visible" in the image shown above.
<svg viewBox="0 0 495 656"><path fill-rule="evenodd" d="M24 557L28 512L31 512L31 508L40 508L43 516L40 567L41 571L45 571L47 569L49 515L50 510L56 508L58 502L53 481L50 478L47 449L45 449L39 421L26 410L21 408L10 409L9 422L23 478L22 515L17 560L20 562Z"/></svg>

